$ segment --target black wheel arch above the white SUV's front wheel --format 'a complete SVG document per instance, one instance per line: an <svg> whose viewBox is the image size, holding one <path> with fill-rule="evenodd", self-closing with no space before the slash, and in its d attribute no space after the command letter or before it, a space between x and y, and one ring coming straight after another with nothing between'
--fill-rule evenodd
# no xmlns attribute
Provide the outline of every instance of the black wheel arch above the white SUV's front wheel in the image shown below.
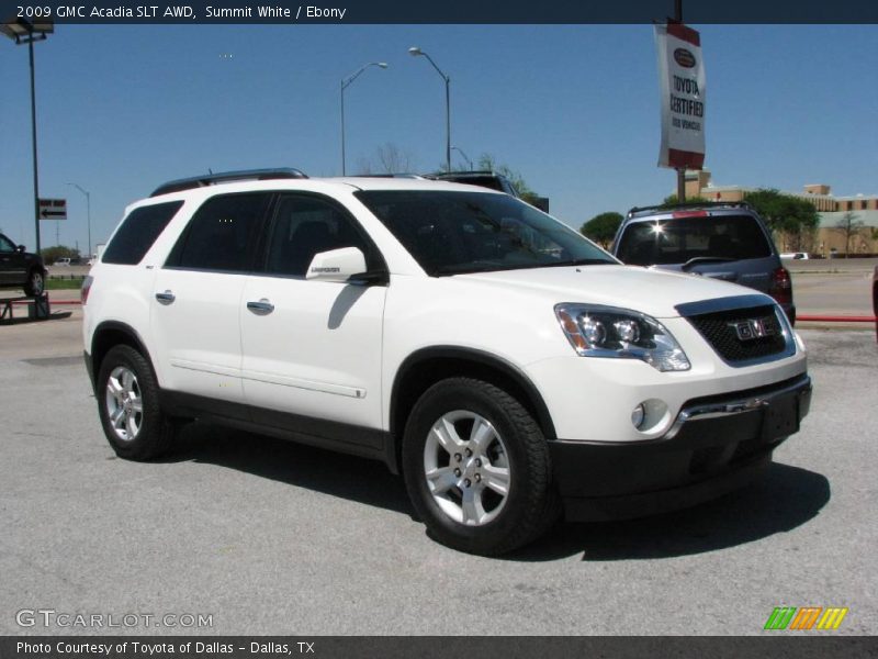
<svg viewBox="0 0 878 659"><path fill-rule="evenodd" d="M406 357L393 381L390 434L394 444L392 459L396 466L402 463L402 435L415 403L427 389L440 380L461 376L477 378L507 391L530 412L545 438L555 439L554 424L545 401L533 382L516 365L485 350L434 346L421 348Z"/></svg>

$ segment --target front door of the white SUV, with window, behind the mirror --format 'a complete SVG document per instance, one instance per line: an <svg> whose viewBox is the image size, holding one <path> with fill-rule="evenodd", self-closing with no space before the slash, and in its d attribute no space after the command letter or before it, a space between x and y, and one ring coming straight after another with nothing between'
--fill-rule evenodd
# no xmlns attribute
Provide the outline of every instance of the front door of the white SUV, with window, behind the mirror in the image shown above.
<svg viewBox="0 0 878 659"><path fill-rule="evenodd" d="M385 268L378 249L341 205L314 194L281 196L269 236L263 271L247 279L240 301L244 392L255 421L307 416L380 428L387 289L305 279L315 254L341 247L361 249L369 270Z"/></svg>

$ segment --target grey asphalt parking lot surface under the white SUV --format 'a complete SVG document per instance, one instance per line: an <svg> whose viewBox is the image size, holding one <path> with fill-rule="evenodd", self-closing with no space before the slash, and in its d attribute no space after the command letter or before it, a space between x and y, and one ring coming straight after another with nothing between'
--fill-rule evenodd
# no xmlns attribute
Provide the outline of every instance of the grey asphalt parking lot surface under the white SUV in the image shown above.
<svg viewBox="0 0 878 659"><path fill-rule="evenodd" d="M116 459L67 313L0 326L0 634L108 632L16 621L48 608L136 634L758 635L775 606L878 632L874 332L801 331L811 415L748 489L485 559L430 540L376 462L207 425ZM211 626L142 617L166 614Z"/></svg>

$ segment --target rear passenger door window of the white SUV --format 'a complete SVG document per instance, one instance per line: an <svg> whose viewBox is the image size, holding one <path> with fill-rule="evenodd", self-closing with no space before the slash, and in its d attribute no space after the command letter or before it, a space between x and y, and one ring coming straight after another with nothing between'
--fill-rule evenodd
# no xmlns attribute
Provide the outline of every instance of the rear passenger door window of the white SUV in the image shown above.
<svg viewBox="0 0 878 659"><path fill-rule="evenodd" d="M245 272L251 268L270 192L222 194L195 211L166 267Z"/></svg>

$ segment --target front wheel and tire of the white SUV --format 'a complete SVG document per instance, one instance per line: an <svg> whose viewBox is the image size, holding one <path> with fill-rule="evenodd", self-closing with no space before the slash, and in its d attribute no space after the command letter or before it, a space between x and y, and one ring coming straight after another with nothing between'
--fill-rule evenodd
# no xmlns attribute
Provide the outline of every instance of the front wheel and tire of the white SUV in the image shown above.
<svg viewBox="0 0 878 659"><path fill-rule="evenodd" d="M560 513L545 437L489 382L451 378L428 389L406 424L403 469L429 534L461 551L511 551Z"/></svg>

